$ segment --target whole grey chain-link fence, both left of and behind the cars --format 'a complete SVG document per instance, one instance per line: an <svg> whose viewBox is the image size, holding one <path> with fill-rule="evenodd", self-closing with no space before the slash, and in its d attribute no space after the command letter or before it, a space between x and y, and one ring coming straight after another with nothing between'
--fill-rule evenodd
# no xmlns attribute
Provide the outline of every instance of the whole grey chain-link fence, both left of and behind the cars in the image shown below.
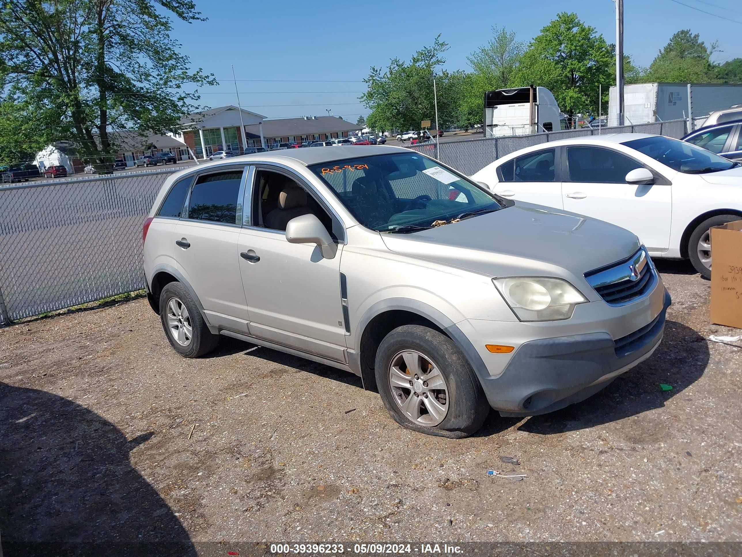
<svg viewBox="0 0 742 557"><path fill-rule="evenodd" d="M682 137L686 121L413 146L472 175L524 147L635 131ZM140 290L142 223L160 186L180 169L0 187L0 325Z"/></svg>

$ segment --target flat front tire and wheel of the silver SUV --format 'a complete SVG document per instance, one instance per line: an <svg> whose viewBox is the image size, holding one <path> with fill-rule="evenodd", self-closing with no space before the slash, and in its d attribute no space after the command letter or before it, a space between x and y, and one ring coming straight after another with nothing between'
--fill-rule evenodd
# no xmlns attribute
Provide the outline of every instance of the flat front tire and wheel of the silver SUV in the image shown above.
<svg viewBox="0 0 742 557"><path fill-rule="evenodd" d="M459 347L442 333L403 325L378 347L376 385L387 411L401 426L461 438L484 423L490 406Z"/></svg>

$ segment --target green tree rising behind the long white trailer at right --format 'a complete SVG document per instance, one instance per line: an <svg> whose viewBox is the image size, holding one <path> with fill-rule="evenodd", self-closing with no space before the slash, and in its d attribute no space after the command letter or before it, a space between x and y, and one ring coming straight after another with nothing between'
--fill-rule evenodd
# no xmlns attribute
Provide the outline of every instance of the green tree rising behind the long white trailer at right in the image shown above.
<svg viewBox="0 0 742 557"><path fill-rule="evenodd" d="M711 56L716 47L715 42L706 47L698 33L693 34L689 29L677 31L649 65L646 79L680 83L715 81L717 72Z"/></svg>

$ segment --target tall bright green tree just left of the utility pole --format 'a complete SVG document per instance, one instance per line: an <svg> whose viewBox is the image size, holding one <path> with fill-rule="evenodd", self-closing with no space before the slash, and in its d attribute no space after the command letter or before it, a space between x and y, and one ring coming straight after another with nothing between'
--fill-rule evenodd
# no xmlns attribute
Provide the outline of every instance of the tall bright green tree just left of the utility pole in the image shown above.
<svg viewBox="0 0 742 557"><path fill-rule="evenodd" d="M609 82L611 48L575 13L562 12L542 28L513 76L517 85L542 85L573 116L594 111L598 85Z"/></svg>

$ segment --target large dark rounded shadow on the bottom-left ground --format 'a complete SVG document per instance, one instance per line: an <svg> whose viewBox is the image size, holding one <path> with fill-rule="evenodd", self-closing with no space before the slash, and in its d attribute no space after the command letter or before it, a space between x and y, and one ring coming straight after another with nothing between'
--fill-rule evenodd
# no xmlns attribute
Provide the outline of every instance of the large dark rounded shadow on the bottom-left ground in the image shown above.
<svg viewBox="0 0 742 557"><path fill-rule="evenodd" d="M191 538L114 424L70 400L0 382L0 532L7 556L195 556Z"/></svg>

